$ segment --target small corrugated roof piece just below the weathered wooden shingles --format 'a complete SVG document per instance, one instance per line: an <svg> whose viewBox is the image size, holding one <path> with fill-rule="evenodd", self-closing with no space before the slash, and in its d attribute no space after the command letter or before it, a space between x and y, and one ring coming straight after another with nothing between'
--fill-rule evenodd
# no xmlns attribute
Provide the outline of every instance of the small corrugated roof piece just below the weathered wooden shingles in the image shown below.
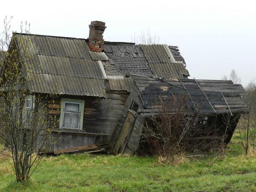
<svg viewBox="0 0 256 192"><path fill-rule="evenodd" d="M131 92L134 81L131 77L108 76L110 90Z"/></svg>

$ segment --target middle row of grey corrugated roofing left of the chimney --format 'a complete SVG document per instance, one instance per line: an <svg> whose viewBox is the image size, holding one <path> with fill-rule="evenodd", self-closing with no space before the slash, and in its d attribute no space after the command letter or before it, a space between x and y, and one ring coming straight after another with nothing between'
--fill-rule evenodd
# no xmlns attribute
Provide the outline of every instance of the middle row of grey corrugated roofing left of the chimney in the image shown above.
<svg viewBox="0 0 256 192"><path fill-rule="evenodd" d="M96 60L34 55L30 62L37 73L106 79Z"/></svg>

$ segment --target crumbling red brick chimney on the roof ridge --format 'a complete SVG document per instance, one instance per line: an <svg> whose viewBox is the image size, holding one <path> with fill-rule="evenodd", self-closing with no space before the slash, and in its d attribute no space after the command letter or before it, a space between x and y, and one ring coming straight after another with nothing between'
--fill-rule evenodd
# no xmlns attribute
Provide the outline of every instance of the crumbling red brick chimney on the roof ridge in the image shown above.
<svg viewBox="0 0 256 192"><path fill-rule="evenodd" d="M106 29L105 23L101 21L92 21L89 24L89 48L91 51L102 52L104 49L103 33Z"/></svg>

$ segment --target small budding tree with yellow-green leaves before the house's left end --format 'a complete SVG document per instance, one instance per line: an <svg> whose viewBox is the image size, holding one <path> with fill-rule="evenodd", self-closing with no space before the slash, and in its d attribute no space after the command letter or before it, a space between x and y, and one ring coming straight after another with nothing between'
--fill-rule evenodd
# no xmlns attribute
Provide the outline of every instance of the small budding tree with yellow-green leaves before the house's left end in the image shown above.
<svg viewBox="0 0 256 192"><path fill-rule="evenodd" d="M23 31L29 33L29 25L21 25ZM0 153L12 158L16 180L24 181L42 159L39 153L52 144L55 117L48 116L47 102L43 102L47 98L28 88L33 81L32 44L28 36L10 35L10 21L5 18L1 37L0 48L8 51L0 63L0 138L6 149Z"/></svg>

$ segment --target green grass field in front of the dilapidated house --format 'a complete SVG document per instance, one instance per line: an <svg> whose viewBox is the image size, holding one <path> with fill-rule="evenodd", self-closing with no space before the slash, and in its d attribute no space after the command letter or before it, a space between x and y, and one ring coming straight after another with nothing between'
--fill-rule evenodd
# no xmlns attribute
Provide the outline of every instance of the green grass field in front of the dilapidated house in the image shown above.
<svg viewBox="0 0 256 192"><path fill-rule="evenodd" d="M159 165L155 157L61 155L45 157L23 185L0 158L3 192L256 192L256 157L233 138L224 157Z"/></svg>

